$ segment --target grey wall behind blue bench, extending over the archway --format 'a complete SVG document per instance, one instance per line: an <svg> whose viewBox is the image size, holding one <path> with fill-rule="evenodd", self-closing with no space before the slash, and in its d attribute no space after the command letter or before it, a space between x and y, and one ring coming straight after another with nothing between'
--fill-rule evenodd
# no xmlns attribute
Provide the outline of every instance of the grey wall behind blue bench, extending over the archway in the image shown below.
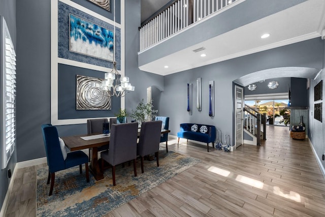
<svg viewBox="0 0 325 217"><path fill-rule="evenodd" d="M232 82L244 75L278 67L322 67L322 41L320 38L307 40L283 47L262 51L220 63L165 76L164 94L159 110L170 116L170 130L177 135L183 122L214 125L222 134L233 135L233 87ZM283 75L285 76L285 75ZM196 79L202 77L202 111L186 111L187 83L193 85L193 99L196 99ZM209 117L208 84L215 82L215 116ZM169 106L166 106L169 105ZM233 144L233 139L231 141Z"/></svg>

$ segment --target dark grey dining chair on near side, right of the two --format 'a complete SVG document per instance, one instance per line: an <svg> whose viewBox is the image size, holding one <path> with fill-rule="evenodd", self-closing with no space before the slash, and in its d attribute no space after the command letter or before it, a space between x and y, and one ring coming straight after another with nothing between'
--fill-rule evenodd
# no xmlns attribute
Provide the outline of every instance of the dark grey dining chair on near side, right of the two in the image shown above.
<svg viewBox="0 0 325 217"><path fill-rule="evenodd" d="M141 158L141 172L143 173L143 160L148 154L155 154L157 167L159 167L159 143L161 134L161 120L145 121L141 123L141 131L137 154Z"/></svg>

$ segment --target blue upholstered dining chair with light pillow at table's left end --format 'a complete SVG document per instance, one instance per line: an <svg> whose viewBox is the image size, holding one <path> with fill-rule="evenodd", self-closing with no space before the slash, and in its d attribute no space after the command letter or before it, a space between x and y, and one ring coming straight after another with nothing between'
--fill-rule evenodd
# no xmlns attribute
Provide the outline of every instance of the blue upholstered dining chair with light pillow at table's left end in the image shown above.
<svg viewBox="0 0 325 217"><path fill-rule="evenodd" d="M86 180L89 182L89 172L88 172L88 156L82 151L72 151L67 154L66 159L63 157L63 151L61 150L59 136L55 126L50 124L42 125L43 140L45 145L47 165L49 167L49 175L47 178L47 184L50 183L51 187L49 196L52 195L55 172L68 169L79 165L80 173L82 173L82 164L85 164L86 168ZM64 146L63 146L64 148Z"/></svg>

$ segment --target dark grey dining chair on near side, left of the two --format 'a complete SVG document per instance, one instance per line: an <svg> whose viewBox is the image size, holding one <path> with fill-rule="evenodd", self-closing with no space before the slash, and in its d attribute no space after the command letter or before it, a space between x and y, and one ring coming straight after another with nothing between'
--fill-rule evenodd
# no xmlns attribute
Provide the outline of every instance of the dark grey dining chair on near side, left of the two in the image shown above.
<svg viewBox="0 0 325 217"><path fill-rule="evenodd" d="M137 139L138 122L112 124L110 149L101 152L102 169L104 169L104 160L112 165L113 185L115 182L116 165L132 161L134 176L137 176Z"/></svg>

